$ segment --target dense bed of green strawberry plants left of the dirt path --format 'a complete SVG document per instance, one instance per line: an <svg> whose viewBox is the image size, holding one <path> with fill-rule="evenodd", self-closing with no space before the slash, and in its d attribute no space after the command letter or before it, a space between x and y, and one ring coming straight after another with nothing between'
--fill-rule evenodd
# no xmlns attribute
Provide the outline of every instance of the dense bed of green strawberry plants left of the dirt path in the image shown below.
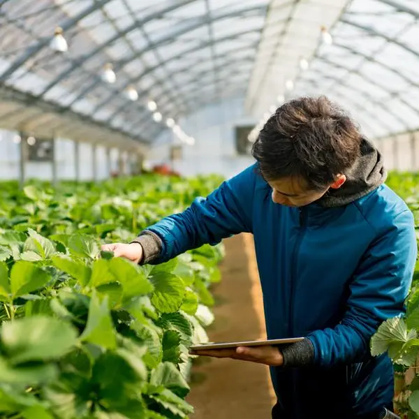
<svg viewBox="0 0 419 419"><path fill-rule="evenodd" d="M223 247L140 267L101 243L132 240L218 178L5 182L0 201L0 416L181 419Z"/></svg>

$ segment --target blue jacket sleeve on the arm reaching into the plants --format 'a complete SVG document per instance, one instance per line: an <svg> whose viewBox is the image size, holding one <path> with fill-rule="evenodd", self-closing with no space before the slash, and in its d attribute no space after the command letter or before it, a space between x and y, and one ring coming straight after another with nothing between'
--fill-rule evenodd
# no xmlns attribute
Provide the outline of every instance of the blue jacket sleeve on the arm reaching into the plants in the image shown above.
<svg viewBox="0 0 419 419"><path fill-rule="evenodd" d="M168 216L147 228L162 241L159 258L163 263L203 244L217 244L238 233L251 233L255 166L223 182L207 198L196 198L180 214Z"/></svg>

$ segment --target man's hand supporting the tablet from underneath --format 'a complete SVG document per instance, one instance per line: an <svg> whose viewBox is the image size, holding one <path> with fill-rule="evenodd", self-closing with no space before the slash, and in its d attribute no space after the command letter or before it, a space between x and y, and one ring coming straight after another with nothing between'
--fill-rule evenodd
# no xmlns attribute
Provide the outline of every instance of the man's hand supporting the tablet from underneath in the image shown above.
<svg viewBox="0 0 419 419"><path fill-rule="evenodd" d="M191 355L210 356L212 358L232 358L258 364L280 367L284 364L284 357L276 346L239 346L225 349L200 349L191 351Z"/></svg>

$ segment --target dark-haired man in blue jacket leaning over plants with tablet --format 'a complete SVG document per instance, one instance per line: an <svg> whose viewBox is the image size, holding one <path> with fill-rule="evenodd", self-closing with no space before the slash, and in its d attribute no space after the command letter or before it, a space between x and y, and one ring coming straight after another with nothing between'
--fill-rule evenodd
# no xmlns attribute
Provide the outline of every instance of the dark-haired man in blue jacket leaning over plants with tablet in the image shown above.
<svg viewBox="0 0 419 419"><path fill-rule="evenodd" d="M156 264L253 233L267 336L305 339L281 351L198 354L270 365L273 418L383 418L392 410L392 364L373 358L369 341L404 311L417 253L413 215L383 184L381 154L325 97L282 105L252 154L254 166L207 198L131 244L104 248Z"/></svg>

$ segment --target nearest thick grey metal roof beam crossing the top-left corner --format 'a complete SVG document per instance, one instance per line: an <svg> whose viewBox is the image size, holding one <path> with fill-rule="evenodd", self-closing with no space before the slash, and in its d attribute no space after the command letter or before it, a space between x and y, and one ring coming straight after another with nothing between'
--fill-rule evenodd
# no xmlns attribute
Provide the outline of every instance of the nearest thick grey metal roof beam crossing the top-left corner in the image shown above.
<svg viewBox="0 0 419 419"><path fill-rule="evenodd" d="M98 8L101 8L102 6L105 6L106 3L109 3L110 0L98 0L91 3L91 6L86 8L85 10L82 10L78 15L75 17L70 17L66 22L61 24L61 28L64 31L68 31L68 29L71 29L74 27L80 20L84 19L84 17L87 17L91 13L98 10ZM27 63L31 57L34 57L35 54L38 54L44 47L46 47L51 41L50 37L41 38L38 43L35 45L32 45L31 47L28 47L26 52L22 54L21 57L17 58L15 61L13 61L12 64L8 68L6 68L3 73L0 75L0 82L3 82L4 80L8 79L10 75L15 73L15 71L24 66L24 64Z"/></svg>

